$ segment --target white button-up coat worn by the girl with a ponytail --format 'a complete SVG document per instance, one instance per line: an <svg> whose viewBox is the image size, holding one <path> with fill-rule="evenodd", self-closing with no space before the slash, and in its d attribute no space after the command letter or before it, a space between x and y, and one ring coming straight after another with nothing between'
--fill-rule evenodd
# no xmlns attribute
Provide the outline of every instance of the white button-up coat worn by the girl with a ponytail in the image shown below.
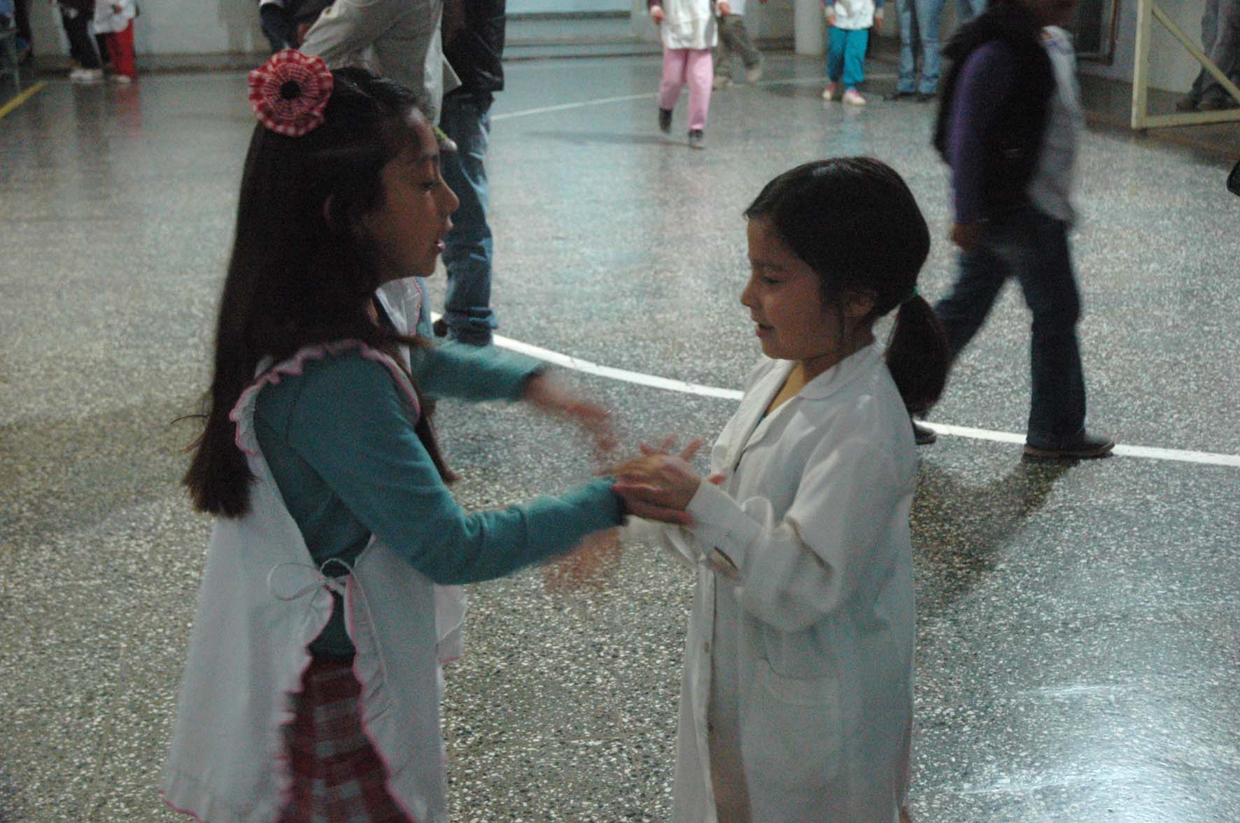
<svg viewBox="0 0 1240 823"><path fill-rule="evenodd" d="M694 524L629 530L697 569L673 823L895 823L904 802L908 413L870 345L763 419L791 367L765 359L750 374L711 454L727 477L702 483Z"/></svg>

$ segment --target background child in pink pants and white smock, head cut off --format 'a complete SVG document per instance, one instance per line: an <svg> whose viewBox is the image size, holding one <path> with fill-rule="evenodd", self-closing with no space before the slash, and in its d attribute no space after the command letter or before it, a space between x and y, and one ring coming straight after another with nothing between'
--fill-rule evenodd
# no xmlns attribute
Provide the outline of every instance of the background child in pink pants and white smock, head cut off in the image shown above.
<svg viewBox="0 0 1240 823"><path fill-rule="evenodd" d="M711 50L719 40L718 14L732 10L727 0L647 0L650 17L663 41L663 81L658 89L658 128L672 129L672 109L681 88L689 84L689 147L706 147L706 117L711 108L714 64Z"/></svg>

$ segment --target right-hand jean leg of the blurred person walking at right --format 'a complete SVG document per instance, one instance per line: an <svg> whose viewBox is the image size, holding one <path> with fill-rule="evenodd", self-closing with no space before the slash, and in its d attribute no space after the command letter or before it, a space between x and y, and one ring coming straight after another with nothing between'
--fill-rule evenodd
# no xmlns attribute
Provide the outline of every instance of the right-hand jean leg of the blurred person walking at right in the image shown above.
<svg viewBox="0 0 1240 823"><path fill-rule="evenodd" d="M1080 294L1068 248L1068 226L1030 209L1022 219L1025 244L1017 279L1033 312L1028 442L1054 449L1085 431L1085 377L1076 322Z"/></svg>

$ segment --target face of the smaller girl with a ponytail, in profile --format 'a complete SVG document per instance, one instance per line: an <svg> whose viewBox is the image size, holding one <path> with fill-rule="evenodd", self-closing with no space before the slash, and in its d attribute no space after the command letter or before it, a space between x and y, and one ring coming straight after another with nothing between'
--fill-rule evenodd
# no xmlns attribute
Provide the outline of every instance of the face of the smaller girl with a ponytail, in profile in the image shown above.
<svg viewBox="0 0 1240 823"><path fill-rule="evenodd" d="M859 347L852 340L856 323L841 326L856 309L825 305L818 275L760 217L749 221L749 266L740 302L749 309L764 354L800 361L817 374Z"/></svg>

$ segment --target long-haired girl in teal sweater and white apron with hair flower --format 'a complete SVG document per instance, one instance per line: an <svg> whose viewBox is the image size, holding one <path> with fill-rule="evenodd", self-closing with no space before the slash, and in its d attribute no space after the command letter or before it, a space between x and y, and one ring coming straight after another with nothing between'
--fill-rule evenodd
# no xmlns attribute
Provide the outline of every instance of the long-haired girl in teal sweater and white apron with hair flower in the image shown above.
<svg viewBox="0 0 1240 823"><path fill-rule="evenodd" d="M250 76L260 124L184 480L217 521L164 778L202 821L446 819L445 586L622 519L606 478L474 513L448 490L427 395L523 399L603 445L606 413L537 361L414 333L458 202L415 103L291 50Z"/></svg>

